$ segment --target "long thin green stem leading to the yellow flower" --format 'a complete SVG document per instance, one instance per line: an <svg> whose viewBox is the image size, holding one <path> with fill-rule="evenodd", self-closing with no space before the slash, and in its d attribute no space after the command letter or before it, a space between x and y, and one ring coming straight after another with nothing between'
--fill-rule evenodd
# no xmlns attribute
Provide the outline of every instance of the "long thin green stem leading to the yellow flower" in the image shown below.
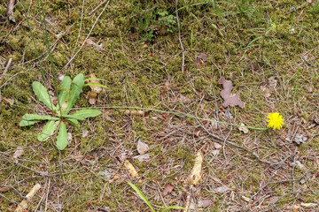
<svg viewBox="0 0 319 212"><path fill-rule="evenodd" d="M247 129L251 129L251 130L267 131L267 130L269 129L269 127L268 127L268 128L258 128L258 127L253 127L253 126L235 125L235 124L230 124L230 123L227 123L227 122L215 121L215 120L209 119L209 118L195 117L195 116L193 116L193 115L191 115L191 114L182 113L182 112L173 112L173 111L165 111L165 110L157 110L157 109L149 109L149 108L130 107L130 106L105 106L105 107L91 107L91 108L96 108L96 109L149 110L149 111L154 111L154 112L159 112L159 113L174 114L174 115L176 115L176 116L191 117L191 118L195 118L195 119L198 119L198 120L209 121L209 122L214 122L214 123L218 123L218 124L241 126L241 127L245 127L245 128L247 128ZM76 109L85 109L85 108L74 108L73 110L76 110Z"/></svg>

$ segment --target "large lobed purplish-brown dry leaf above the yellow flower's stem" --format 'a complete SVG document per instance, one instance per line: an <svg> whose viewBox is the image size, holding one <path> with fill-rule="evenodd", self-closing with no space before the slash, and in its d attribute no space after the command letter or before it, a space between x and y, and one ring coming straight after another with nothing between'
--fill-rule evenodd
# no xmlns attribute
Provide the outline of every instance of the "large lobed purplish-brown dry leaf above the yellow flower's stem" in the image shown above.
<svg viewBox="0 0 319 212"><path fill-rule="evenodd" d="M239 99L239 93L236 95L231 94L232 90L232 82L230 80L226 80L224 77L219 79L219 84L222 84L222 98L224 99L224 107L227 106L239 106L240 108L244 108L245 103Z"/></svg>

